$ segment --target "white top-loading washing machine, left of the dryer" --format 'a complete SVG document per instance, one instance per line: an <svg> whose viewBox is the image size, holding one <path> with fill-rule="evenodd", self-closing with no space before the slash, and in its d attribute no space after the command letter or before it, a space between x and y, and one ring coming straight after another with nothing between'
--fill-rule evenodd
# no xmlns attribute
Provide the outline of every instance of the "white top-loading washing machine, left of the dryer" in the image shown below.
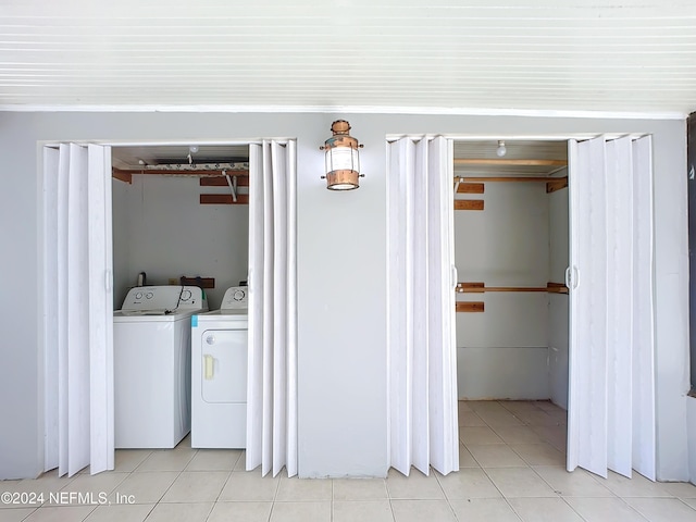
<svg viewBox="0 0 696 522"><path fill-rule="evenodd" d="M113 314L116 448L173 448L190 431L191 316L197 286L132 288Z"/></svg>

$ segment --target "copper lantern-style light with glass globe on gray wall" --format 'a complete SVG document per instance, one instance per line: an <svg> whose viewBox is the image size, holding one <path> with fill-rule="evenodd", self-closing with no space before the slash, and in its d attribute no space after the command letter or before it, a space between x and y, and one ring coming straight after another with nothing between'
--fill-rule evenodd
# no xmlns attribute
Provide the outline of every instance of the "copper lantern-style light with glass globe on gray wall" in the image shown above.
<svg viewBox="0 0 696 522"><path fill-rule="evenodd" d="M358 188L360 174L360 152L362 145L350 136L350 124L345 120L337 120L331 125L333 136L328 138L320 150L324 151L326 188L330 190L352 190Z"/></svg>

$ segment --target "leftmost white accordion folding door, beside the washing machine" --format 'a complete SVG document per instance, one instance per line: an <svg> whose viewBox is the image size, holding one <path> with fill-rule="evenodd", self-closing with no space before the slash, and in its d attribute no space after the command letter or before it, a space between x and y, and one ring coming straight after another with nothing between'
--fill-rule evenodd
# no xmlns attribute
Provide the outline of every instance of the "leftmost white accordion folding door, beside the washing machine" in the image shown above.
<svg viewBox="0 0 696 522"><path fill-rule="evenodd" d="M94 474L114 461L111 149L45 160L45 468Z"/></svg>

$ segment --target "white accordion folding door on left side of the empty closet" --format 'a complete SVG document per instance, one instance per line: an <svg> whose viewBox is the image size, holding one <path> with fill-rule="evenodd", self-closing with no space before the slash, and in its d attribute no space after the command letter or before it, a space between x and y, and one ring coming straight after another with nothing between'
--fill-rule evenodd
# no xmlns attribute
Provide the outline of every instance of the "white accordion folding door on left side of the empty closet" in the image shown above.
<svg viewBox="0 0 696 522"><path fill-rule="evenodd" d="M390 465L408 475L458 469L452 146L388 145Z"/></svg>

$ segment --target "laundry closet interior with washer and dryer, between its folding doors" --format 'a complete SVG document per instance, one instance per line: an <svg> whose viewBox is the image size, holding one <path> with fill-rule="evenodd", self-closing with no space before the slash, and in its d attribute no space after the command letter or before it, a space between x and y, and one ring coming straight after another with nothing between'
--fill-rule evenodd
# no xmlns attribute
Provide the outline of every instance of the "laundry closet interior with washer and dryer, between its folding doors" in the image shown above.
<svg viewBox="0 0 696 522"><path fill-rule="evenodd" d="M246 410L248 162L248 145L112 148L116 449L208 444L229 393ZM214 334L191 336L207 313ZM245 447L235 419L219 447Z"/></svg>

